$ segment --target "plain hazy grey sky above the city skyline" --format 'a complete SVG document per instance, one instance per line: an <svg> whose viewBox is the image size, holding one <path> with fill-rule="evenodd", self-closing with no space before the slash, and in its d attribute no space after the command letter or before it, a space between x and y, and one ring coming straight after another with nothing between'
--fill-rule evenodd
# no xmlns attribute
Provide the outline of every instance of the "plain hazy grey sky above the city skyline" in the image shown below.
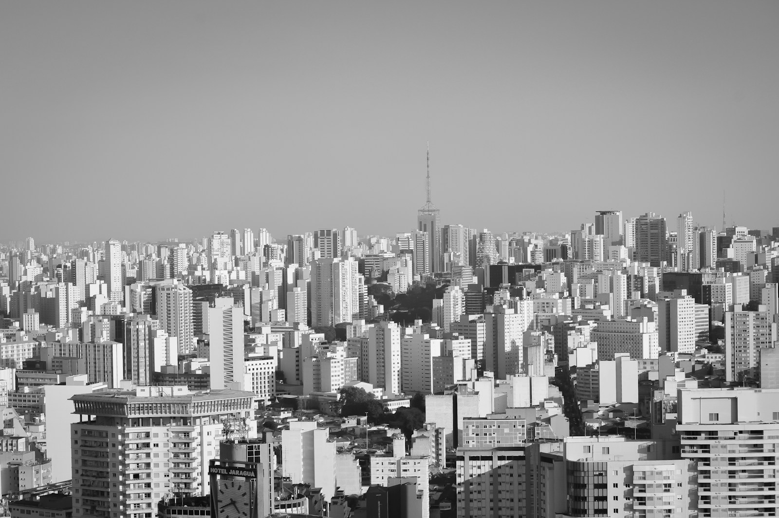
<svg viewBox="0 0 779 518"><path fill-rule="evenodd" d="M779 226L779 2L0 3L0 240Z"/></svg>

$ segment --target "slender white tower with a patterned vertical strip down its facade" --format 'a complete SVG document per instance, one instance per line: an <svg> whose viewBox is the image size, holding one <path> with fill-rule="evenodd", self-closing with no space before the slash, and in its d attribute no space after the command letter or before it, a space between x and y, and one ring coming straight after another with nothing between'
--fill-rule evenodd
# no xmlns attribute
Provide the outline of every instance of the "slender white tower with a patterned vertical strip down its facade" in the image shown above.
<svg viewBox="0 0 779 518"><path fill-rule="evenodd" d="M233 305L233 298L217 297L208 308L210 339L211 389L234 388L244 384L243 308Z"/></svg>

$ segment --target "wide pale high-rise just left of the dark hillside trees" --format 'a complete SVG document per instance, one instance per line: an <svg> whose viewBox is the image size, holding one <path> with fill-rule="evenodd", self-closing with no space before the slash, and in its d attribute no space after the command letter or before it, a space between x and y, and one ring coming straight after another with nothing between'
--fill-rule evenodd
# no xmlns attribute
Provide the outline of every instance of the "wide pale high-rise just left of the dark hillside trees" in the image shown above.
<svg viewBox="0 0 779 518"><path fill-rule="evenodd" d="M311 263L311 325L351 322L360 314L358 263L348 259L318 259Z"/></svg>

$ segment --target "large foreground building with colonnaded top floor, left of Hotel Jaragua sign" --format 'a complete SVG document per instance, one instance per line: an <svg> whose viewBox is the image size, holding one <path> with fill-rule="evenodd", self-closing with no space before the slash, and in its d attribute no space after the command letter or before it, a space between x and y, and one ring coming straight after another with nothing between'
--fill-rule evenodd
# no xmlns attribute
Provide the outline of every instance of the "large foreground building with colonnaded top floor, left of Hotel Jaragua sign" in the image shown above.
<svg viewBox="0 0 779 518"><path fill-rule="evenodd" d="M73 396L73 516L150 518L166 493L208 495L225 431L256 437L253 396L185 386Z"/></svg>

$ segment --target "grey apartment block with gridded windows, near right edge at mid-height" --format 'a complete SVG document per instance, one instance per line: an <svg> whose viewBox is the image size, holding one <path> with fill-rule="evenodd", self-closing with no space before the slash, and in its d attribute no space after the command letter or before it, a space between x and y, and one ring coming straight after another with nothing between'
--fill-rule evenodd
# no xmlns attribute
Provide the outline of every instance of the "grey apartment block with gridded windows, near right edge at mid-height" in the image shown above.
<svg viewBox="0 0 779 518"><path fill-rule="evenodd" d="M760 306L759 311L745 311L741 304L735 304L731 311L725 311L726 381L760 381L760 352L777 340L774 315L766 309Z"/></svg>

